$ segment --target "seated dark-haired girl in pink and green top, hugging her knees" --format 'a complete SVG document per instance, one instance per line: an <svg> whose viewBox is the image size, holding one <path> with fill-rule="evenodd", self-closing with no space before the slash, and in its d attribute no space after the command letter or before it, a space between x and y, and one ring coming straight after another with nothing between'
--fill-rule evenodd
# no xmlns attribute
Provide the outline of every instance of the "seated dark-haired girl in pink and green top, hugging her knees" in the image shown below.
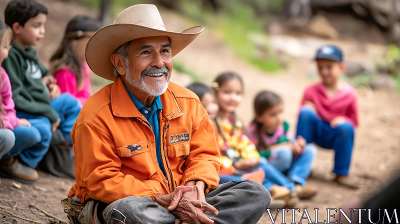
<svg viewBox="0 0 400 224"><path fill-rule="evenodd" d="M296 183L298 196L306 199L316 194L316 189L307 187L312 162L315 158L316 147L306 144L304 138L297 136L293 139L289 124L283 120L283 101L277 94L262 91L254 100L255 118L247 127L247 136L256 145L261 156L268 158L275 168Z"/></svg>

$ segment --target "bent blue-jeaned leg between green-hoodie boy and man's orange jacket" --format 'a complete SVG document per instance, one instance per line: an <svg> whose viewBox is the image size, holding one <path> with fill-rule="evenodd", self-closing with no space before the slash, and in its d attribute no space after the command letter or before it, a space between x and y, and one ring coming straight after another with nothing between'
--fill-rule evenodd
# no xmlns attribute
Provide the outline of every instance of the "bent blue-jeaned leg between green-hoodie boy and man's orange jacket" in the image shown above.
<svg viewBox="0 0 400 224"><path fill-rule="evenodd" d="M51 107L57 112L61 122L58 129L65 139L72 145L71 130L79 115L80 102L69 93L62 93L57 98L51 100Z"/></svg>

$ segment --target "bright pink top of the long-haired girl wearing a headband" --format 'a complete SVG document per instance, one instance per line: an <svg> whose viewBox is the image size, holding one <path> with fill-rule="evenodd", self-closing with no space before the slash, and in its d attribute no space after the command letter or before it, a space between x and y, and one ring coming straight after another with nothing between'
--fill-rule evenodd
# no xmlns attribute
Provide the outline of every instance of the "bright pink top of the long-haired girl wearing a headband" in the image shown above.
<svg viewBox="0 0 400 224"><path fill-rule="evenodd" d="M57 80L57 85L61 89L61 92L69 92L83 105L84 102L91 96L90 68L86 62L83 63L82 75L82 89L78 89L75 74L68 70L66 66L56 71L54 73L54 78Z"/></svg>

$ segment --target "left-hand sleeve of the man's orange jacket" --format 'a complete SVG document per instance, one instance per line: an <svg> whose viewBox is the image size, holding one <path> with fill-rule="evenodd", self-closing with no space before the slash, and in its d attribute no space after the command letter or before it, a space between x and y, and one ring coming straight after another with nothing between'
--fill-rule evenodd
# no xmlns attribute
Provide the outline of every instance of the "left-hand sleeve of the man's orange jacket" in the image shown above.
<svg viewBox="0 0 400 224"><path fill-rule="evenodd" d="M111 203L127 196L154 199L161 189L156 180L140 181L121 170L115 144L98 124L83 122L72 133L75 169L89 191L89 197Z"/></svg>

